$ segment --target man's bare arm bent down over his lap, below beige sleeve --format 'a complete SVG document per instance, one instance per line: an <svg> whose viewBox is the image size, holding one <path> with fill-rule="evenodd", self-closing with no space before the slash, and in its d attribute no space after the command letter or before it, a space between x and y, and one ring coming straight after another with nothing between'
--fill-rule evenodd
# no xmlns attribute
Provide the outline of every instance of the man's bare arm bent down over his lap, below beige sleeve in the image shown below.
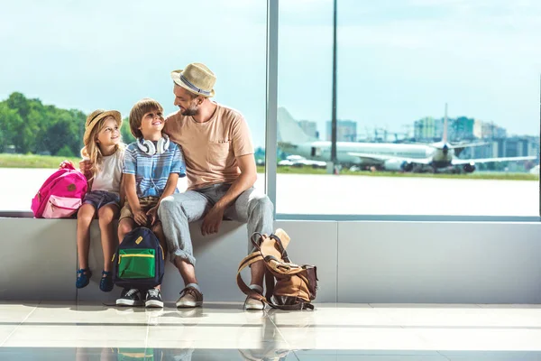
<svg viewBox="0 0 541 361"><path fill-rule="evenodd" d="M234 180L233 184L225 192L224 197L218 200L214 207L206 214L201 226L203 236L218 232L218 228L224 218L224 212L244 190L248 190L257 180L257 168L255 166L255 158L253 154L246 154L236 157L236 161L241 170L241 175Z"/></svg>

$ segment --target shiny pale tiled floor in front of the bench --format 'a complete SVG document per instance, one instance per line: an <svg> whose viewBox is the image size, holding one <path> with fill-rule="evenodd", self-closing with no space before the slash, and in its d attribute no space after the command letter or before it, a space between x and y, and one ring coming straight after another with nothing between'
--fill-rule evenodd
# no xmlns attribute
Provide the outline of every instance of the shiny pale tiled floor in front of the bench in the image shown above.
<svg viewBox="0 0 541 361"><path fill-rule="evenodd" d="M0 360L41 359L541 360L541 305L0 303Z"/></svg>

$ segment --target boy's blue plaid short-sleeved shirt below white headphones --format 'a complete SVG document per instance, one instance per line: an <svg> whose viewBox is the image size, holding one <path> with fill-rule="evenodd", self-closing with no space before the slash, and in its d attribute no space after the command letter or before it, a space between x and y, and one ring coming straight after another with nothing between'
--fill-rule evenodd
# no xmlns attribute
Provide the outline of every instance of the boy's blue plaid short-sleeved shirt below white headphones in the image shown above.
<svg viewBox="0 0 541 361"><path fill-rule="evenodd" d="M149 155L134 142L124 152L123 173L135 175L137 197L160 197L170 173L179 173L179 177L184 177L186 165L176 143L170 142L165 153ZM177 188L175 193L179 193Z"/></svg>

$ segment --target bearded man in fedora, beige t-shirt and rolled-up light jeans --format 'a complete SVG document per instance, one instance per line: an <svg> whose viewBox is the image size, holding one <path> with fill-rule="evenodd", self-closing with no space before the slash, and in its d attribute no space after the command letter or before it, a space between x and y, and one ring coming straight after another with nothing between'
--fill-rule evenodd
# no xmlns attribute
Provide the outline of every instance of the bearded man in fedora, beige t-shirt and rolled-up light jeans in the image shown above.
<svg viewBox="0 0 541 361"><path fill-rule="evenodd" d="M164 132L182 147L188 190L161 200L158 215L168 242L171 262L185 283L177 307L198 307L203 294L197 283L188 224L203 219L203 236L218 232L223 218L248 223L248 252L253 232L271 234L273 205L253 188L257 179L252 137L236 110L212 101L215 74L204 64L188 64L171 72L175 106L179 111L166 119ZM264 264L252 264L251 288L262 293ZM261 301L250 297L245 310L262 310Z"/></svg>

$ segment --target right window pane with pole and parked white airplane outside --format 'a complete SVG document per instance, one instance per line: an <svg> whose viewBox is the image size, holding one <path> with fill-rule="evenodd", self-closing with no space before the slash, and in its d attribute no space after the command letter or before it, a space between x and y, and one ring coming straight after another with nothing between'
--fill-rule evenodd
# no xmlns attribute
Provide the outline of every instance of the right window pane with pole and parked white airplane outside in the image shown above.
<svg viewBox="0 0 541 361"><path fill-rule="evenodd" d="M280 2L279 214L539 215L541 3L337 0L335 170L334 3L306 3Z"/></svg>

